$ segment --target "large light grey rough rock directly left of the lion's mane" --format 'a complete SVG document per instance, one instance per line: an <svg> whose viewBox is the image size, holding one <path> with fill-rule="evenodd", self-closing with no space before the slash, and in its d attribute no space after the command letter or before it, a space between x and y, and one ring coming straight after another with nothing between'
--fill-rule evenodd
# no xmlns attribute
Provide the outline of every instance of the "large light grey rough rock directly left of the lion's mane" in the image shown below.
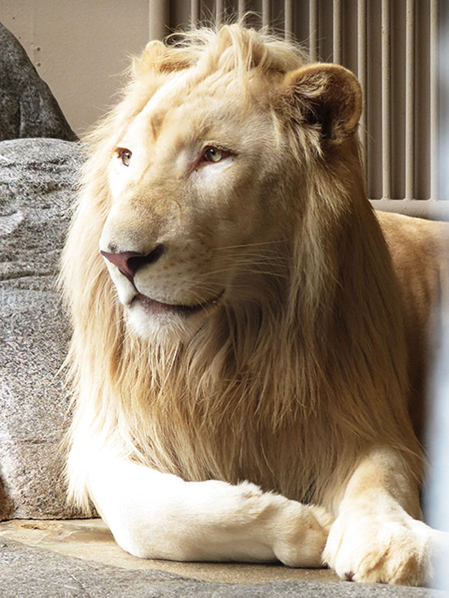
<svg viewBox="0 0 449 598"><path fill-rule="evenodd" d="M68 340L55 291L80 144L0 142L0 519L73 517L59 443Z"/></svg>

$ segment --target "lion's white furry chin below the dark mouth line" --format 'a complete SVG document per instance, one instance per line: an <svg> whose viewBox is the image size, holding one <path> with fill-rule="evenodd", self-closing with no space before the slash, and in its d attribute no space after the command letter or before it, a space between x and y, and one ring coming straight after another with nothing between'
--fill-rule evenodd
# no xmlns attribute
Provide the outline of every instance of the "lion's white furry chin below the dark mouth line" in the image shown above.
<svg viewBox="0 0 449 598"><path fill-rule="evenodd" d="M222 294L198 305L174 305L138 293L128 306L127 319L140 338L169 345L185 343L218 309Z"/></svg>

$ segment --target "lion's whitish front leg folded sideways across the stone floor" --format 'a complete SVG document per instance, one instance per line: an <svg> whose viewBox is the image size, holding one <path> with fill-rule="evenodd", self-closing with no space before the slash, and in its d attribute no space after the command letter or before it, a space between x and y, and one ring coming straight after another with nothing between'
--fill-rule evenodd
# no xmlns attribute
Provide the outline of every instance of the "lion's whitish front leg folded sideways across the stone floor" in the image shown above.
<svg viewBox="0 0 449 598"><path fill-rule="evenodd" d="M90 464L89 491L117 543L137 557L322 566L325 510L248 482L185 482L104 454Z"/></svg>

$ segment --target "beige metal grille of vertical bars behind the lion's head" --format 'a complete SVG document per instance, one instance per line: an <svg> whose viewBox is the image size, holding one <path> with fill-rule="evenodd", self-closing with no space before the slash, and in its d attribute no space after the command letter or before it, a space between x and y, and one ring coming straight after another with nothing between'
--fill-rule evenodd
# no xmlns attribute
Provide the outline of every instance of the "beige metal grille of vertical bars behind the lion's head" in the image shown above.
<svg viewBox="0 0 449 598"><path fill-rule="evenodd" d="M149 5L153 19L169 14L172 29L252 11L251 26L283 31L312 60L350 68L363 89L360 137L374 204L448 199L437 197L439 0L192 0L187 17L181 0Z"/></svg>

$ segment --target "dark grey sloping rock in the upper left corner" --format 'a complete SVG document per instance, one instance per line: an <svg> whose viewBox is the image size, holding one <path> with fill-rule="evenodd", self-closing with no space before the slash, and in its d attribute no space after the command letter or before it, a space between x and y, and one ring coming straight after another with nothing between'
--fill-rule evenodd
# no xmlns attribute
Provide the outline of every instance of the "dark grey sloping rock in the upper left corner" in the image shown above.
<svg viewBox="0 0 449 598"><path fill-rule="evenodd" d="M0 139L19 137L77 139L26 51L0 23Z"/></svg>

